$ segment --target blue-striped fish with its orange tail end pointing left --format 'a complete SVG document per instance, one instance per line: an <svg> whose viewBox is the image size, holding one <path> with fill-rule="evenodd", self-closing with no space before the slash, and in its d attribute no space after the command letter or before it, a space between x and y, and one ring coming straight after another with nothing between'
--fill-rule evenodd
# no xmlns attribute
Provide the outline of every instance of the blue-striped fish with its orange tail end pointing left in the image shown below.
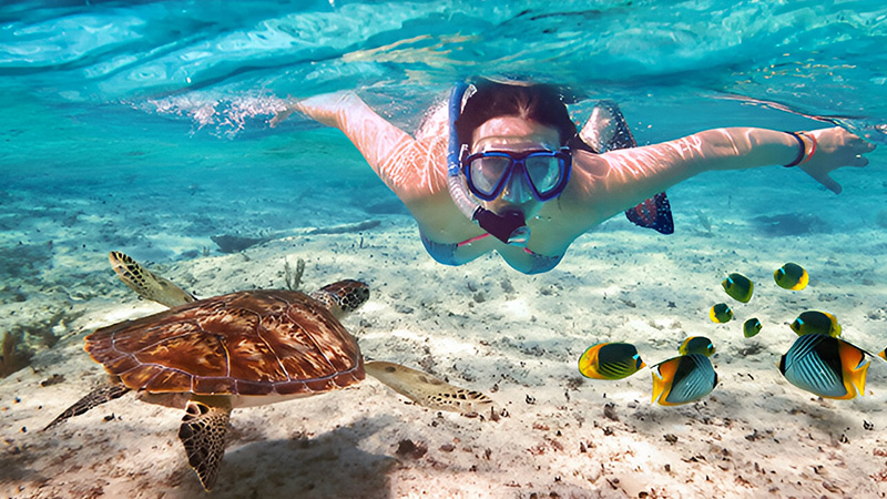
<svg viewBox="0 0 887 499"><path fill-rule="evenodd" d="M712 361L702 354L670 358L653 366L653 400L662 406L687 404L711 394L717 385Z"/></svg>

